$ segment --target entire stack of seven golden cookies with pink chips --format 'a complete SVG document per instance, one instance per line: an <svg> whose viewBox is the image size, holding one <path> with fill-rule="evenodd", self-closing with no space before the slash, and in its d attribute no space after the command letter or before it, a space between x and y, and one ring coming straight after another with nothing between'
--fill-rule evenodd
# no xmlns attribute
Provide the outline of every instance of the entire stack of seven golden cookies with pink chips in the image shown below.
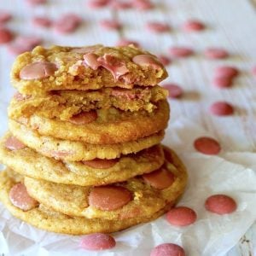
<svg viewBox="0 0 256 256"><path fill-rule="evenodd" d="M187 175L160 145L166 69L133 46L36 47L17 57L19 91L0 143L0 200L40 229L113 232L158 218Z"/></svg>

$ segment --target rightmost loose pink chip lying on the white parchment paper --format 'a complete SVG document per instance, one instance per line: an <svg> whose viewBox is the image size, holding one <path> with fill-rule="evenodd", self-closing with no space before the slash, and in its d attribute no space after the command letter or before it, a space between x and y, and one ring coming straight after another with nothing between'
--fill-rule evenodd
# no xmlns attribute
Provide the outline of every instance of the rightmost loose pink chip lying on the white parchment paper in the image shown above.
<svg viewBox="0 0 256 256"><path fill-rule="evenodd" d="M205 207L209 212L228 214L236 211L236 201L228 195L212 195L207 198Z"/></svg>

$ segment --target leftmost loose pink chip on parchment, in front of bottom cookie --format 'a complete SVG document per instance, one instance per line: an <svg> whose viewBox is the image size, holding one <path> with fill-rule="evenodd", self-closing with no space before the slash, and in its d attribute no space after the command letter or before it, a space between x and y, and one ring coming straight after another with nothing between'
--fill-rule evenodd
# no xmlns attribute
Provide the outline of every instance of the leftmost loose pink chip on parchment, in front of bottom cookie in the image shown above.
<svg viewBox="0 0 256 256"><path fill-rule="evenodd" d="M101 251L115 247L115 240L113 236L108 234L95 233L84 236L80 241L80 247L91 250L91 251Z"/></svg>

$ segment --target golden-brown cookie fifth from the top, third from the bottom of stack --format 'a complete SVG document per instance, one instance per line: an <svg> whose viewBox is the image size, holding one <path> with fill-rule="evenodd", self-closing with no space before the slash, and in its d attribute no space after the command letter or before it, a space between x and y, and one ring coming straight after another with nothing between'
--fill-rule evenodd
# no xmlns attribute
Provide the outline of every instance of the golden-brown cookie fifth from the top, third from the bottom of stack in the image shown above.
<svg viewBox="0 0 256 256"><path fill-rule="evenodd" d="M55 160L38 154L31 148L6 147L11 134L0 141L0 161L21 175L54 183L81 186L122 182L139 174L152 172L164 162L160 146L144 149L137 154L121 156L118 160L70 162ZM110 166L109 166L109 161ZM108 167L108 168L106 168Z"/></svg>

